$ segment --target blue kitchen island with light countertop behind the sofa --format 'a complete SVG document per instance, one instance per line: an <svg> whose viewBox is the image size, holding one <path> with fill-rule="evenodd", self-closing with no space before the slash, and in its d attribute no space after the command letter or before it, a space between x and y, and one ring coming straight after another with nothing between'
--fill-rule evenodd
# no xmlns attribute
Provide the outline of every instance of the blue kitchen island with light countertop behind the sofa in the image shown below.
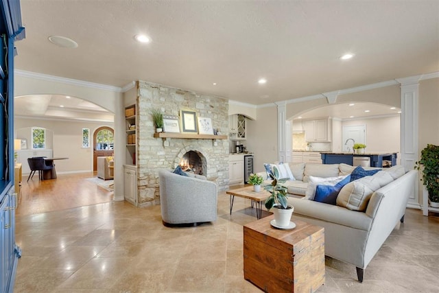
<svg viewBox="0 0 439 293"><path fill-rule="evenodd" d="M397 152L366 152L364 154L353 154L352 152L320 152L324 164L345 163L353 165L353 158L365 156L370 158L370 167L383 167L383 161L390 161L392 166L396 165Z"/></svg>

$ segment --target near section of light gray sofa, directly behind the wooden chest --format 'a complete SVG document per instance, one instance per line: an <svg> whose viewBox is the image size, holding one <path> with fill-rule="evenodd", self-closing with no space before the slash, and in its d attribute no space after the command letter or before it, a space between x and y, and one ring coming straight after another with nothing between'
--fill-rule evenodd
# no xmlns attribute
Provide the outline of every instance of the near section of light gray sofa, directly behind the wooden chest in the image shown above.
<svg viewBox="0 0 439 293"><path fill-rule="evenodd" d="M383 172L385 171L374 176L385 174ZM371 179L367 177L364 177L364 181L370 182ZM289 197L289 204L294 206L292 221L302 220L324 227L325 255L356 266L358 280L362 282L364 270L372 257L392 233L398 221L403 222L408 198L417 187L416 178L417 172L412 170L373 191L365 211L355 211L338 205L343 204L339 202L343 201L339 198L346 185L337 197L337 205ZM366 189L367 183L360 188ZM349 192L344 192L344 200L350 200L351 197Z"/></svg>

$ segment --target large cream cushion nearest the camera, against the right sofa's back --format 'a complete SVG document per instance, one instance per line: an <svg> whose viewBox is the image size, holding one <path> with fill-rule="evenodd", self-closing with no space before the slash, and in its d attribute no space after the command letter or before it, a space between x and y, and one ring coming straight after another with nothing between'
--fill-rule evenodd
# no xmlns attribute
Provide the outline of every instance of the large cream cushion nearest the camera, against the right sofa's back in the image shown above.
<svg viewBox="0 0 439 293"><path fill-rule="evenodd" d="M352 176L352 175L351 175ZM351 181L344 185L337 196L337 205L353 211L366 211L373 192L388 185L393 178L388 172L377 172L373 176Z"/></svg>

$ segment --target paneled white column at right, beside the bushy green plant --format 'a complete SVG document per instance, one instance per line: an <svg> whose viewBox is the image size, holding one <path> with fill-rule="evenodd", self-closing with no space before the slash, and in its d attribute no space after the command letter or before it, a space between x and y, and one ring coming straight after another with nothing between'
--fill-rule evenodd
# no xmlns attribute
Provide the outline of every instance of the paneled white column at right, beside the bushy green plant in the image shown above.
<svg viewBox="0 0 439 293"><path fill-rule="evenodd" d="M401 78L401 165L406 170L418 161L418 95L419 76ZM410 196L407 207L420 209L418 185Z"/></svg>

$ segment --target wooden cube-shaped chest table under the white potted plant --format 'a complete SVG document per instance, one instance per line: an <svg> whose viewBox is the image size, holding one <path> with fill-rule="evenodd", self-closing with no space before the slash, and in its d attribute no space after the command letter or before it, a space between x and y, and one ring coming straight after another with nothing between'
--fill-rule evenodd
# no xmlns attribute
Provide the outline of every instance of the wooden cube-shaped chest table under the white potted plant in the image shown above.
<svg viewBox="0 0 439 293"><path fill-rule="evenodd" d="M270 225L274 215L244 226L244 279L265 292L314 292L324 283L324 228L293 221Z"/></svg>

